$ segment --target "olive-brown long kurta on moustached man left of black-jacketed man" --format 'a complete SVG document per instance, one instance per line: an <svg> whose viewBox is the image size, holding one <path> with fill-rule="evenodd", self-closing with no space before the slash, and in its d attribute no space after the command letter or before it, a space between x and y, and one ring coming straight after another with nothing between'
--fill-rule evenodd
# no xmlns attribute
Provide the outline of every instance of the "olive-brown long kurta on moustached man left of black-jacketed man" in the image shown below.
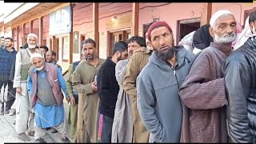
<svg viewBox="0 0 256 144"><path fill-rule="evenodd" d="M91 89L91 84L103 62L105 59L98 58L98 65L93 66L83 60L74 71L72 86L78 91L77 142L96 142L99 98L98 93Z"/></svg>

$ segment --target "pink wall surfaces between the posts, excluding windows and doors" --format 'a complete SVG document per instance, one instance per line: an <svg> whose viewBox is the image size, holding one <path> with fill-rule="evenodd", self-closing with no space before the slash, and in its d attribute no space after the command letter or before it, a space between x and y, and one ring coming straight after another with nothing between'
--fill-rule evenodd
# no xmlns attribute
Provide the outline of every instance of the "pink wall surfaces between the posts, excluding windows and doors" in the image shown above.
<svg viewBox="0 0 256 144"><path fill-rule="evenodd" d="M102 4L103 5L103 4ZM104 4L104 8L99 8L99 56L100 58L106 58L107 46L108 46L108 33L115 30L131 29L130 20L132 17L132 4L131 3L114 3ZM85 6L85 7L83 7ZM142 36L142 25L150 23L153 18L160 18L161 21L166 21L173 29L174 36L177 35L177 24L179 20L185 20L190 18L201 18L202 3L140 3L139 13L139 35ZM254 3L213 3L212 14L217 10L230 10L238 22L244 25L244 11L250 10L256 7ZM106 12L106 10L108 10ZM112 16L126 20L121 23L111 22ZM46 38L47 46L50 47L49 36L49 15L46 15L43 19L44 30L43 38ZM124 23L127 22L127 23ZM111 26L110 26L111 25ZM118 28L116 28L118 27ZM74 6L74 18L73 18L73 31L79 32L79 45L81 43L80 35L86 34L86 38L93 38L93 22L92 22L92 5L88 3L76 3ZM19 34L22 34L22 30L19 30ZM62 44L62 36L67 34L57 35L59 38L59 46ZM175 37L176 38L176 37ZM20 42L21 39L20 39ZM62 47L59 47L59 56L62 56ZM80 54L73 54L73 61L78 61ZM59 57L61 59L61 57Z"/></svg>

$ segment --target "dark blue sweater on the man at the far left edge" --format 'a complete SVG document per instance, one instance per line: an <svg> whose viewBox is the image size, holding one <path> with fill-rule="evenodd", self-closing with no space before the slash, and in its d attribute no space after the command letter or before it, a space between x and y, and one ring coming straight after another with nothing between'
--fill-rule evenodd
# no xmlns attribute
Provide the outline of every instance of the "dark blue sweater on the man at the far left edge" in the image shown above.
<svg viewBox="0 0 256 144"><path fill-rule="evenodd" d="M0 50L0 74L10 74L11 66L16 57L17 50L8 51L6 48Z"/></svg>

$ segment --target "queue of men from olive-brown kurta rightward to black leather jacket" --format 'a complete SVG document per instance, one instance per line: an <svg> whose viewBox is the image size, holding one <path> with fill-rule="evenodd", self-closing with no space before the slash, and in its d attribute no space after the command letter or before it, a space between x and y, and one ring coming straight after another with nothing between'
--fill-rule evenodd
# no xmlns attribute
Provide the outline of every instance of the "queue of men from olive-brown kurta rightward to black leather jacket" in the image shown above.
<svg viewBox="0 0 256 144"><path fill-rule="evenodd" d="M249 23L255 34L255 12ZM82 42L86 59L70 66L74 141L256 143L255 36L233 51L228 10L213 14L208 30L213 42L198 54L174 46L162 21L150 25L147 42L116 42L106 60L94 40Z"/></svg>

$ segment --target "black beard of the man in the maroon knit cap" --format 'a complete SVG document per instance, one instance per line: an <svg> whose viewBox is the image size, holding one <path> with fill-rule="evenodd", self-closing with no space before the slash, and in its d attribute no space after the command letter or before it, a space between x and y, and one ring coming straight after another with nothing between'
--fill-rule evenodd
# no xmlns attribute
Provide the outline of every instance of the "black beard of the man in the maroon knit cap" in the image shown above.
<svg viewBox="0 0 256 144"><path fill-rule="evenodd" d="M154 50L155 54L157 54L158 58L162 59L163 61L169 60L174 58L176 54L176 48L168 46L168 50L166 52L162 52L161 50Z"/></svg>

